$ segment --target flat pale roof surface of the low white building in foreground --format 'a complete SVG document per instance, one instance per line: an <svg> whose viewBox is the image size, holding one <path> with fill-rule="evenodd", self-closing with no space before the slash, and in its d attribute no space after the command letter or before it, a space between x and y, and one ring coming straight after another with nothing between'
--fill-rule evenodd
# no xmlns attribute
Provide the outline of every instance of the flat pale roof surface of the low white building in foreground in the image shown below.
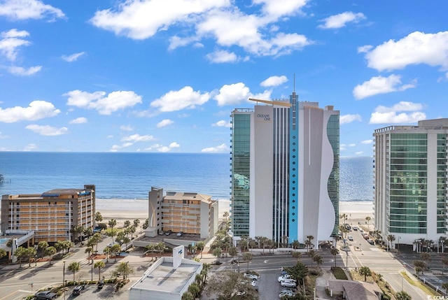
<svg viewBox="0 0 448 300"><path fill-rule="evenodd" d="M181 265L174 269L172 257L162 257L159 264L151 266L144 276L132 285L132 289L180 293L201 266L202 264L190 259L182 259Z"/></svg>

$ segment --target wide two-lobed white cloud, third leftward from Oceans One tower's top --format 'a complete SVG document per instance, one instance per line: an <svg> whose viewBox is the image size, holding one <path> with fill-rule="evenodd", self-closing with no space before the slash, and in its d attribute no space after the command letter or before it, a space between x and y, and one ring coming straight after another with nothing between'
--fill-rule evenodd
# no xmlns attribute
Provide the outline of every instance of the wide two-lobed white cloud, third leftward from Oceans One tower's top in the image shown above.
<svg viewBox="0 0 448 300"><path fill-rule="evenodd" d="M69 97L68 106L78 108L96 109L101 115L111 115L117 110L123 110L141 103L141 96L132 91L111 92L83 92L80 90L70 91L63 96Z"/></svg>

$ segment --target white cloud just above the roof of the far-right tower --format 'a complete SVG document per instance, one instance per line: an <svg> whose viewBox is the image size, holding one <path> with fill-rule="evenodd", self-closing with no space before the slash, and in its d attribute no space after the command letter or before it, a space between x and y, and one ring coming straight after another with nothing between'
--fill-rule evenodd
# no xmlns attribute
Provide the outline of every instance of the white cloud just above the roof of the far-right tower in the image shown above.
<svg viewBox="0 0 448 300"><path fill-rule="evenodd" d="M370 116L370 124L408 124L425 120L426 114L421 111L421 103L400 101L391 107L377 106ZM406 113L406 112L412 113ZM400 113L402 112L402 113Z"/></svg>

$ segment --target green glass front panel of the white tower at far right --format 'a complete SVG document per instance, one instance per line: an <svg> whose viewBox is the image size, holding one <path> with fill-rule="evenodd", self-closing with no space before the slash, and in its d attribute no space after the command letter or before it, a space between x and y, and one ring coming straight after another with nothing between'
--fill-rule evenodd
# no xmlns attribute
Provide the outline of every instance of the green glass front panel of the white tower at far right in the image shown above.
<svg viewBox="0 0 448 300"><path fill-rule="evenodd" d="M427 134L390 135L389 231L427 233Z"/></svg>

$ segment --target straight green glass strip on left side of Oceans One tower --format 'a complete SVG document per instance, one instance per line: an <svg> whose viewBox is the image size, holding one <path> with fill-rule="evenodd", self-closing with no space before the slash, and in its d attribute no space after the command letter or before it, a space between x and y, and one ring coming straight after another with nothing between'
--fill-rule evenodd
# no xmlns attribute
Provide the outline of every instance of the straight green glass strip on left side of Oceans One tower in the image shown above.
<svg viewBox="0 0 448 300"><path fill-rule="evenodd" d="M249 235L251 113L232 113L232 231Z"/></svg>

